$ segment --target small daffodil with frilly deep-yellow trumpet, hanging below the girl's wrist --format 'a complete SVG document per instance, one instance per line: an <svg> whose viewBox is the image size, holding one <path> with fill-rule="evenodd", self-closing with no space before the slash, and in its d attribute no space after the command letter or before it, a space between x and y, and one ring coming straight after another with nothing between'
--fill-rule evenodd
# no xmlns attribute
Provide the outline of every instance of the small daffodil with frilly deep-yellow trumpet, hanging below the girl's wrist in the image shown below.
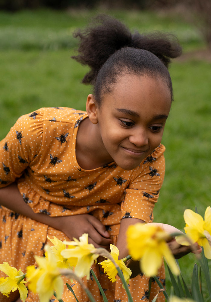
<svg viewBox="0 0 211 302"><path fill-rule="evenodd" d="M130 268L128 268L125 264L124 261L122 259L118 259L119 256L119 250L116 246L110 244L110 250L111 250L111 256L113 257L114 261L116 262L116 264L120 267L124 279L125 281L128 283L130 280L130 276L131 276L131 270ZM106 275L108 276L108 278L112 281L115 282L116 281L116 275L118 274L118 271L114 265L114 263L110 260L104 260L98 264L102 265L102 268L104 268L104 273L106 272Z"/></svg>

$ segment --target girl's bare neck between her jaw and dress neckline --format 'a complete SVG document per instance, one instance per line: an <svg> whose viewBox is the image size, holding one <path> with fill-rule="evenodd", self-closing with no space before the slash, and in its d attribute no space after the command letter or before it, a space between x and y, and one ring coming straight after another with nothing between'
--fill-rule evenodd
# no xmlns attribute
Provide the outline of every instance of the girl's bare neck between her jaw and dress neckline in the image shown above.
<svg viewBox="0 0 211 302"><path fill-rule="evenodd" d="M92 124L85 118L78 127L76 138L76 159L84 170L92 170L113 161L105 149L98 124Z"/></svg>

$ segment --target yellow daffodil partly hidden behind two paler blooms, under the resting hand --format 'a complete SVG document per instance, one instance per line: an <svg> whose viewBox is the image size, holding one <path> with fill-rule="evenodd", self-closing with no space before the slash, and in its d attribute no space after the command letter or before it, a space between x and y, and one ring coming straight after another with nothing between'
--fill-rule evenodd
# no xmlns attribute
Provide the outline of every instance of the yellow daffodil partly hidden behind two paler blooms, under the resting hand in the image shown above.
<svg viewBox="0 0 211 302"><path fill-rule="evenodd" d="M48 239L51 241L51 243L53 243L53 246L51 246L51 249L52 249L52 252L56 255L57 266L59 268L72 269L73 266L75 266L77 264L77 258L66 259L61 255L61 251L63 251L64 249L67 248L65 242L57 239L55 236L53 237L53 239L50 239L49 237L48 237ZM69 248L74 248L74 246L70 246Z"/></svg>

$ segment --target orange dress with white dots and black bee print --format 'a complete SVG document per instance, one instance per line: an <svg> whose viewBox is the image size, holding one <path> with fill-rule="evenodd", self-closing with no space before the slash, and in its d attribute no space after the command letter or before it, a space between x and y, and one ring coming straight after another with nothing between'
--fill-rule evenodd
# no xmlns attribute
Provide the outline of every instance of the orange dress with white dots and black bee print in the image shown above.
<svg viewBox="0 0 211 302"><path fill-rule="evenodd" d="M84 170L77 163L75 145L78 127L86 117L84 111L64 107L41 108L20 117L0 142L0 187L17 180L24 201L36 213L53 217L90 213L106 226L115 244L121 219L153 221L153 207L165 172L165 147L158 146L130 171L121 169L115 162ZM28 265L34 264L34 255L43 255L47 236L69 240L64 233L3 206L0 211L0 263L8 262L25 271ZM99 265L93 269L109 302L128 301L120 280L109 281ZM2 276L5 277L3 273ZM164 266L159 279L164 284ZM103 301L95 281L90 278L85 283L96 301ZM156 282L152 282L150 293L148 283L149 279L143 275L129 281L134 302L151 301L158 293ZM79 301L88 301L77 282L72 288ZM162 293L159 297L157 301L165 301ZM68 290L62 299L75 301ZM26 301L39 299L29 292ZM57 300L53 297L51 301Z"/></svg>

